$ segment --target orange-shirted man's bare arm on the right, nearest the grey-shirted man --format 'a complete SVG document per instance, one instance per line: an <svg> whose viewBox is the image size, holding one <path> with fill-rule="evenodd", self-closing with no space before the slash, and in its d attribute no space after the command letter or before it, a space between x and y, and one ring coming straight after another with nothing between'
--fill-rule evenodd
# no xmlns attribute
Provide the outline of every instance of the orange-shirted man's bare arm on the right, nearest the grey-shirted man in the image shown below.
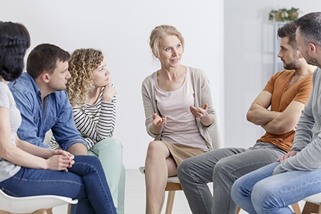
<svg viewBox="0 0 321 214"><path fill-rule="evenodd" d="M281 112L281 114L272 119L272 121L263 125L262 128L273 134L284 134L296 130L296 125L298 124L303 108L303 103L292 101L284 112Z"/></svg>

